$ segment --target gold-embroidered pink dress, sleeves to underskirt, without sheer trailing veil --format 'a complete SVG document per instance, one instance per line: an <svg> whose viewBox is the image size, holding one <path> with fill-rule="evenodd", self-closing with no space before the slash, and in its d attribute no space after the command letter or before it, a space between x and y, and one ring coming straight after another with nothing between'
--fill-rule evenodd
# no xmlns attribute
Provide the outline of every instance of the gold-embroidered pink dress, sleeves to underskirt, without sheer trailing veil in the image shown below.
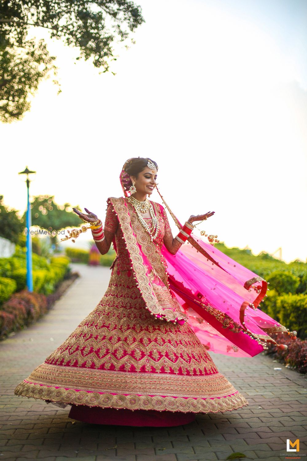
<svg viewBox="0 0 307 461"><path fill-rule="evenodd" d="M124 204L129 234L119 225L114 201L108 204L104 229L115 233L117 252L108 289L64 343L18 384L15 394L70 404L70 417L77 420L130 426L177 426L198 413L248 405L218 371L209 347L162 283L167 272L161 246L169 229L165 211L153 202L159 235L151 246L130 205ZM135 254L132 247L128 253L127 242L136 247ZM144 267L137 266L138 248L151 262L144 280ZM146 286L150 289L145 295Z"/></svg>

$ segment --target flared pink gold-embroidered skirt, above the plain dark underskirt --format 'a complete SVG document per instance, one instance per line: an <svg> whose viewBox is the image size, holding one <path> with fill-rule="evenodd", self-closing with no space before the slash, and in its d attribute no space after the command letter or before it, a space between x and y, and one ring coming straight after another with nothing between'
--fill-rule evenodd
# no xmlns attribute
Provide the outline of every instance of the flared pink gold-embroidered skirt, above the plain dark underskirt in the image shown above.
<svg viewBox="0 0 307 461"><path fill-rule="evenodd" d="M129 271L15 394L100 408L216 413L248 405L191 327L150 315Z"/></svg>

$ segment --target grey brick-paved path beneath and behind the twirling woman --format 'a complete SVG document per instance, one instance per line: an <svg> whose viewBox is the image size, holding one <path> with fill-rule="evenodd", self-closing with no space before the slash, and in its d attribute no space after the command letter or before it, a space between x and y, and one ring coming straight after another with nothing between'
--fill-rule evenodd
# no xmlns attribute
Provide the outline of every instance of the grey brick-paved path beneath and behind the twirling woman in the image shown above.
<svg viewBox="0 0 307 461"><path fill-rule="evenodd" d="M300 453L307 453L306 376L263 355L231 358L210 353L249 406L225 414L203 414L191 424L174 428L72 423L70 407L60 409L14 396L16 385L69 336L104 295L109 269L73 266L82 277L52 311L0 343L0 461L225 460L233 452L242 452L248 459L275 461L286 459L280 454L287 455L287 438L292 442L299 438ZM274 371L274 366L282 370Z"/></svg>

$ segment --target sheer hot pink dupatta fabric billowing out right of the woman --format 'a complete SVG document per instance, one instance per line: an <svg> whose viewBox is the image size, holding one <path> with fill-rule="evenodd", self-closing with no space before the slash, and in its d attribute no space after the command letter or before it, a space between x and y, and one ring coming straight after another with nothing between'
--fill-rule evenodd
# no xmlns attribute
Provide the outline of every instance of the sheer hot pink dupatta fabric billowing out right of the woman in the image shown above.
<svg viewBox="0 0 307 461"><path fill-rule="evenodd" d="M207 349L252 357L275 343L268 333L286 328L262 312L266 281L196 237L197 248L183 245L175 254L162 247L169 284L189 316L189 325Z"/></svg>

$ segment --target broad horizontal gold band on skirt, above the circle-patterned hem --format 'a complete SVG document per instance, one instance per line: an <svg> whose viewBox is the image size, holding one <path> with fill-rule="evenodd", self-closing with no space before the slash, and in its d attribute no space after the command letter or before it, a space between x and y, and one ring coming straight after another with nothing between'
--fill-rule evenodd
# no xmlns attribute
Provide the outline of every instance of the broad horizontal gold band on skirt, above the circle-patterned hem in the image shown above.
<svg viewBox="0 0 307 461"><path fill-rule="evenodd" d="M74 390L135 393L145 396L210 398L225 397L236 392L232 384L219 372L207 376L177 376L93 370L48 363L35 368L25 381Z"/></svg>

